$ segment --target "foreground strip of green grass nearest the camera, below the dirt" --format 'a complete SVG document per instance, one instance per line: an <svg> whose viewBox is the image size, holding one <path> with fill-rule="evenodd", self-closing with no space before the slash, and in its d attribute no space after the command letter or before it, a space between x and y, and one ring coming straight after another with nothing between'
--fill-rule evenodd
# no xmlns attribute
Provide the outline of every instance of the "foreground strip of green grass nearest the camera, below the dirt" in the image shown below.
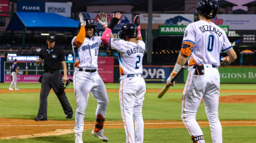
<svg viewBox="0 0 256 143"><path fill-rule="evenodd" d="M223 142L225 143L254 143L256 127L223 127ZM97 143L101 142L98 138L92 136L91 129L83 133L83 142ZM202 127L205 142L212 142L211 131L209 127ZM105 129L104 134L111 143L125 142L124 129ZM48 136L40 138L0 140L1 143L70 143L74 142L74 133L67 135ZM145 143L188 143L192 142L188 131L185 128L171 129L145 129Z"/></svg>

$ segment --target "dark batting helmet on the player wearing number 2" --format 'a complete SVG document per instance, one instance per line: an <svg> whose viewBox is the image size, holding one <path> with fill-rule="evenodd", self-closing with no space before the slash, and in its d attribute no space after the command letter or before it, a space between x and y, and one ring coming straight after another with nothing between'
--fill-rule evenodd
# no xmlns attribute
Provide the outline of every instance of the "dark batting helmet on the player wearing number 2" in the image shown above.
<svg viewBox="0 0 256 143"><path fill-rule="evenodd" d="M138 36L138 27L134 23L126 23L122 25L122 30L119 33L120 39L125 37L136 38Z"/></svg>

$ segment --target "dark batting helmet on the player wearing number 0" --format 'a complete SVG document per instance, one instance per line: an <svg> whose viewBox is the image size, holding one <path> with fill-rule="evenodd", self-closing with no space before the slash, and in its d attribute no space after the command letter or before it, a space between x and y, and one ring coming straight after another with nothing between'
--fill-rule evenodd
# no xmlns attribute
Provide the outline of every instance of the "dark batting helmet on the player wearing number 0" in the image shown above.
<svg viewBox="0 0 256 143"><path fill-rule="evenodd" d="M201 0L196 8L198 13L209 18L215 18L217 10L219 10L219 4L215 0Z"/></svg>

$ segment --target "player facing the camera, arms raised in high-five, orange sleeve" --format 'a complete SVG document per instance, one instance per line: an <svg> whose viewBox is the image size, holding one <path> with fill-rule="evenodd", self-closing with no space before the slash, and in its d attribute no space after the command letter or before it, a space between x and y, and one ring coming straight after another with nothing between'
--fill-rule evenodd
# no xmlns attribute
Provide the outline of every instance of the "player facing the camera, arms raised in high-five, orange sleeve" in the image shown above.
<svg viewBox="0 0 256 143"><path fill-rule="evenodd" d="M72 40L72 49L75 57L75 71L73 76L74 94L76 96L76 116L74 131L76 132L76 143L83 143L83 127L85 109L89 99L89 92L97 100L96 125L92 130L92 135L100 138L103 142L109 139L103 135L103 125L109 99L103 80L98 75L98 49L102 41L100 36L94 36L96 26L92 19L83 19L79 15L80 30L78 35ZM99 14L98 22L107 28L107 15ZM113 36L113 34L111 34ZM114 37L114 36L113 36Z"/></svg>

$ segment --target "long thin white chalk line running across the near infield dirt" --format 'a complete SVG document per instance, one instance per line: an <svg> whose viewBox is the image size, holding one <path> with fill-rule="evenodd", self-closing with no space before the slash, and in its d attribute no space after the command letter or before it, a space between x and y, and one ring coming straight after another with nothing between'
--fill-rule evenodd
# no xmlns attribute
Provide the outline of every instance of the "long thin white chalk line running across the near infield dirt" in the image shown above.
<svg viewBox="0 0 256 143"><path fill-rule="evenodd" d="M199 124L209 124L209 122L198 122ZM242 121L242 122L222 122L221 123L228 123L228 124L236 124L236 123L256 123L256 121ZM180 125L183 124L183 122L145 122L145 125ZM85 124L85 126L93 126L95 124ZM105 123L104 125L123 125L122 123L116 123L116 124L107 124ZM36 126L42 126L42 127L47 127L47 126L74 126L74 125L0 125L0 127L36 127Z"/></svg>

